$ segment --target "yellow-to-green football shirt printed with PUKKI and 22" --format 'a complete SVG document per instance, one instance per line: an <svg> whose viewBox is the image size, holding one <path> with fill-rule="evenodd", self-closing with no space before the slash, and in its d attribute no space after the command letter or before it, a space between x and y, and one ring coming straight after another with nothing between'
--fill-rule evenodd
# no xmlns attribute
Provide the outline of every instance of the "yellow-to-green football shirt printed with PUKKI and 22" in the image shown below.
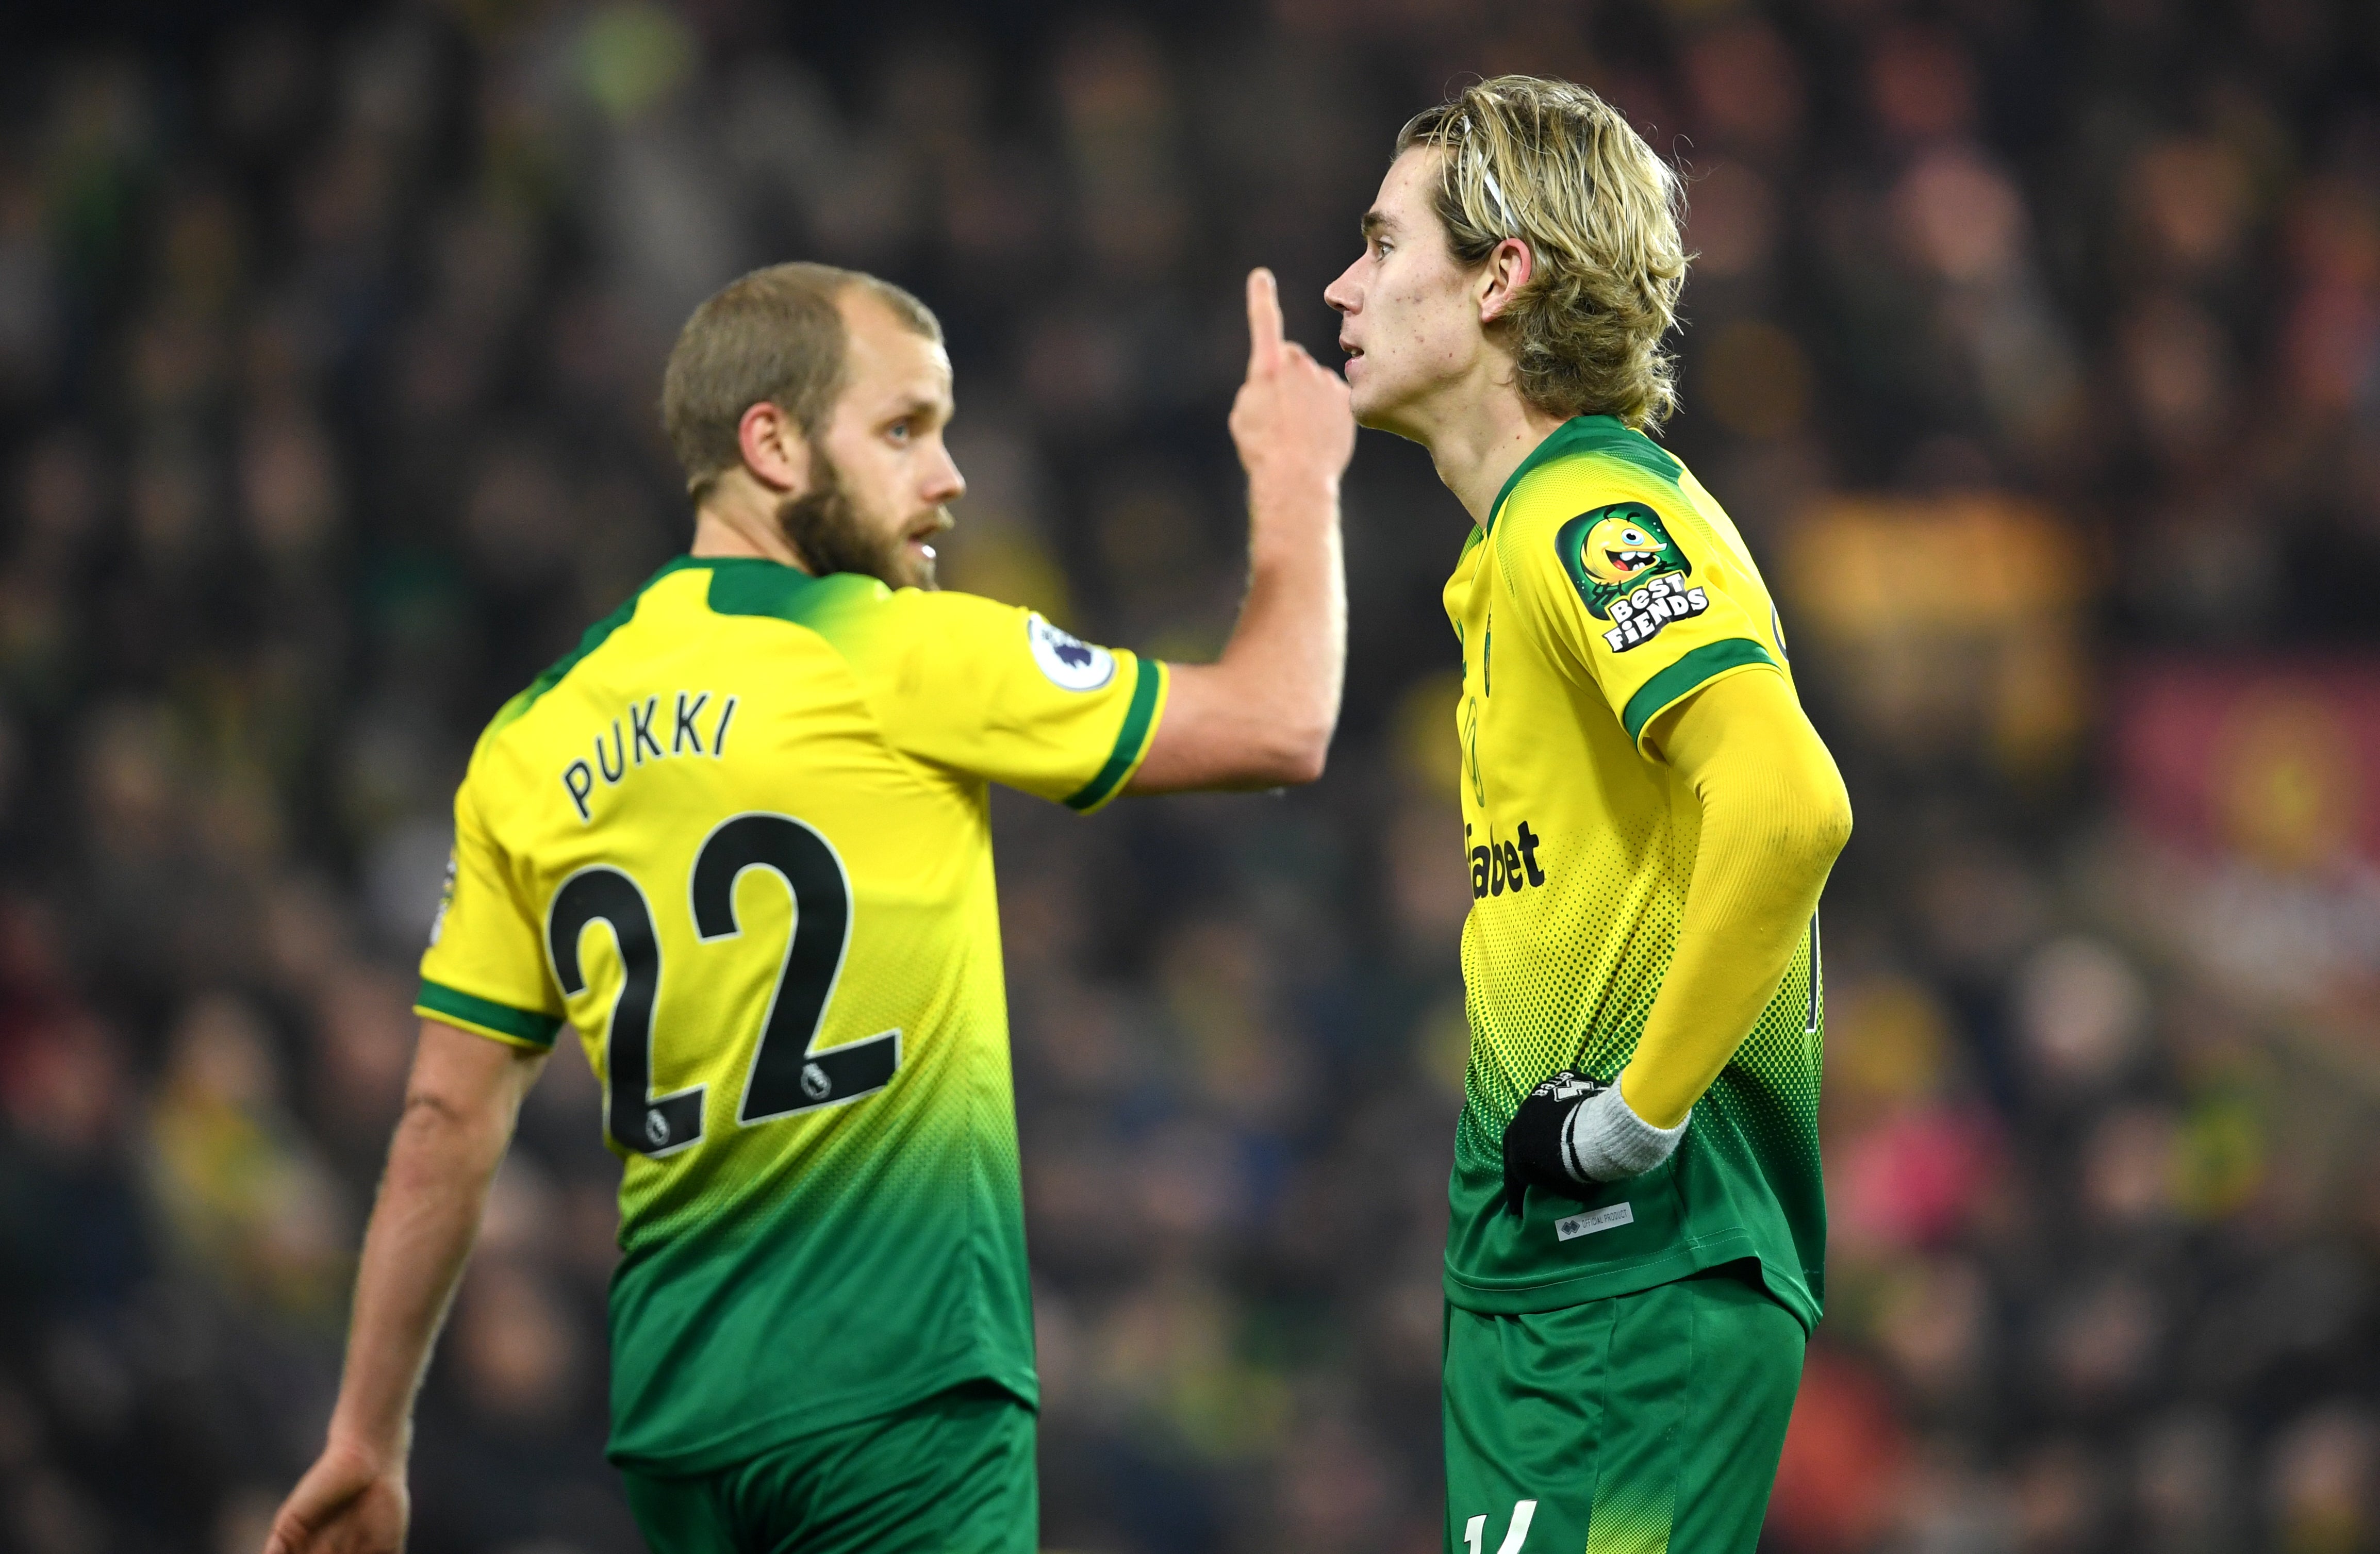
<svg viewBox="0 0 2380 1554"><path fill-rule="evenodd" d="M416 1009L605 1080L612 1456L1035 1399L985 783L1114 797L1157 662L681 557L481 735Z"/></svg>

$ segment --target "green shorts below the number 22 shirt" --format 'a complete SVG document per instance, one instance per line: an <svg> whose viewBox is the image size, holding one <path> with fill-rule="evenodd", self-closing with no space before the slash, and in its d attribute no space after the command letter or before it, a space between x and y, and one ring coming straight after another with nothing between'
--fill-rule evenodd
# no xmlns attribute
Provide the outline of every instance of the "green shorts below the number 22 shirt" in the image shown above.
<svg viewBox="0 0 2380 1554"><path fill-rule="evenodd" d="M1033 1409L990 1383L821 1430L750 1461L621 1471L652 1554L1033 1554Z"/></svg>

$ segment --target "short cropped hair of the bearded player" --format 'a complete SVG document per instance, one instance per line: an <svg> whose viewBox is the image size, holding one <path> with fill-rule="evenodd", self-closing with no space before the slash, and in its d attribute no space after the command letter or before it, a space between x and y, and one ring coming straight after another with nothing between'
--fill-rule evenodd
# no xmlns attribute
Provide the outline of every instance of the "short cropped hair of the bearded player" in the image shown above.
<svg viewBox="0 0 2380 1554"><path fill-rule="evenodd" d="M942 343L914 295L857 269L771 264L714 290L678 331L662 374L662 428L697 502L743 462L743 412L769 402L816 438L843 397L847 331L835 302L864 286L902 324Z"/></svg>

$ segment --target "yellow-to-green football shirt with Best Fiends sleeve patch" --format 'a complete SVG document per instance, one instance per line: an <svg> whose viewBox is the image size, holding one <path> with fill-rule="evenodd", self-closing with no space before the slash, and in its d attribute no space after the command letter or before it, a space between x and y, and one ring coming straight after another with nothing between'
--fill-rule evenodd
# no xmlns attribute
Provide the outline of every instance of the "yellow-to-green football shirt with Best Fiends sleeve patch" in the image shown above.
<svg viewBox="0 0 2380 1554"><path fill-rule="evenodd" d="M1464 650L1464 988L1447 1299L1547 1311L1733 1259L1818 1321L1816 921L1668 1164L1583 1197L1504 1197L1502 1138L1564 1066L1611 1080L1668 971L1702 804L1645 747L1730 673L1792 685L1759 566L1711 493L1611 416L1559 426L1511 474L1447 583Z"/></svg>

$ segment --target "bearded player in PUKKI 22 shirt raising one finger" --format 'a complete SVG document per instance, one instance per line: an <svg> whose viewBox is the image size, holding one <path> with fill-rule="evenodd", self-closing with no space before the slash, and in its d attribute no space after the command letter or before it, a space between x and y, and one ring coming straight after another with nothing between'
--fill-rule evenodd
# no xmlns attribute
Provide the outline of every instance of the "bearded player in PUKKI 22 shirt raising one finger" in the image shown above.
<svg viewBox="0 0 2380 1554"><path fill-rule="evenodd" d="M414 1390L569 1021L624 1161L609 1456L657 1554L1031 1554L985 785L1090 812L1321 773L1354 421L1266 271L1247 317L1247 602L1219 664L1169 666L933 593L964 481L916 297L783 264L695 309L662 388L690 554L471 754L338 1406L269 1552L402 1547Z"/></svg>

